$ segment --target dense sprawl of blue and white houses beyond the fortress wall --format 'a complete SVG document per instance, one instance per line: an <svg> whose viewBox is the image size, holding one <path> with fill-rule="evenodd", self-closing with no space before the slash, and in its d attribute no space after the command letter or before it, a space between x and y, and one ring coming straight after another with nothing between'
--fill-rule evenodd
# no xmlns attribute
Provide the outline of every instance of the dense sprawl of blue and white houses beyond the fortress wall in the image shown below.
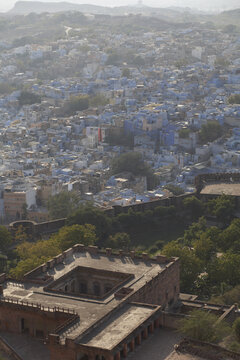
<svg viewBox="0 0 240 360"><path fill-rule="evenodd" d="M110 32L101 15L30 14L30 27L35 17L34 28L60 22L64 32L0 44L3 222L22 218L25 204L29 218L47 219L46 200L62 190L126 205L168 196L168 184L192 192L199 173L238 171L234 26L156 21L150 31L136 15L121 33L119 19ZM125 152L141 154L153 184L111 172Z"/></svg>

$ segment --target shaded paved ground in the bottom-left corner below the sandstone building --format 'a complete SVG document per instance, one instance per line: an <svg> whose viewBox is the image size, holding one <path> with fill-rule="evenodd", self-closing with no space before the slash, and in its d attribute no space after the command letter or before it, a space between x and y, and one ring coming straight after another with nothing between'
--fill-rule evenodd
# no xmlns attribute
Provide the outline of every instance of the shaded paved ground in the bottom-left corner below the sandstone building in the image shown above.
<svg viewBox="0 0 240 360"><path fill-rule="evenodd" d="M23 334L1 332L0 335L24 360L50 360L48 348L43 342Z"/></svg>

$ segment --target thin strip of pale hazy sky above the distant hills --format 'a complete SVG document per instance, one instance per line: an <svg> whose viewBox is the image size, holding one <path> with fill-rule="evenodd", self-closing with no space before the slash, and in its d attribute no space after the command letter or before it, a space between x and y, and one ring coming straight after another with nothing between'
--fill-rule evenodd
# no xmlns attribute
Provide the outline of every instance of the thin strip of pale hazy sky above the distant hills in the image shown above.
<svg viewBox="0 0 240 360"><path fill-rule="evenodd" d="M31 1L31 0L26 0ZM68 1L78 4L96 4L106 6L133 5L138 0L41 0L49 2ZM0 11L10 10L16 0L0 0ZM224 10L240 8L240 0L143 0L144 5L168 7L168 6L189 6L201 10Z"/></svg>

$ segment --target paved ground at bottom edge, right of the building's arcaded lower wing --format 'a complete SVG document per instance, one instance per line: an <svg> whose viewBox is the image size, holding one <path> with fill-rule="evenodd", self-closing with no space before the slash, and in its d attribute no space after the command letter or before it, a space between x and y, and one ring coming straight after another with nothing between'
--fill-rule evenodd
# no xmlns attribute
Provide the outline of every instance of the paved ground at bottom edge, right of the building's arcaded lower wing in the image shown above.
<svg viewBox="0 0 240 360"><path fill-rule="evenodd" d="M176 331L159 329L129 353L129 360L172 360L174 345L178 344L181 336ZM182 359L179 359L182 360Z"/></svg>

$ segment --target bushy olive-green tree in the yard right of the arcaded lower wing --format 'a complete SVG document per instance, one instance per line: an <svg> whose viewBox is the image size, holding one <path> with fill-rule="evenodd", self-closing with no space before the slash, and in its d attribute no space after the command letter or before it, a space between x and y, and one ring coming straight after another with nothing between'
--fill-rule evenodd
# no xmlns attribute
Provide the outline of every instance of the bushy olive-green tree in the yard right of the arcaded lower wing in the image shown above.
<svg viewBox="0 0 240 360"><path fill-rule="evenodd" d="M193 310L179 322L179 332L200 341L219 342L230 333L230 327L218 317L204 310Z"/></svg>

